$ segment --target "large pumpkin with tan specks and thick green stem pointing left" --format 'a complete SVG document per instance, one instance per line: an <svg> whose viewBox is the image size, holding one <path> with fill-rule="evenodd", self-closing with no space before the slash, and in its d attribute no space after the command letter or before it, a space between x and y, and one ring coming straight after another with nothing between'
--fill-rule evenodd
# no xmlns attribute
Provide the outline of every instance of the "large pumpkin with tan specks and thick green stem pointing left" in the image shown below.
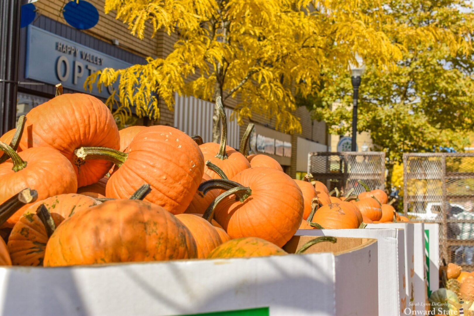
<svg viewBox="0 0 474 316"><path fill-rule="evenodd" d="M139 132L129 144L128 153L83 147L77 155L86 160L101 156L119 166L107 181L107 198L128 199L141 185L149 183L151 192L145 199L173 214L184 213L204 173L198 145L182 131L163 125Z"/></svg>

